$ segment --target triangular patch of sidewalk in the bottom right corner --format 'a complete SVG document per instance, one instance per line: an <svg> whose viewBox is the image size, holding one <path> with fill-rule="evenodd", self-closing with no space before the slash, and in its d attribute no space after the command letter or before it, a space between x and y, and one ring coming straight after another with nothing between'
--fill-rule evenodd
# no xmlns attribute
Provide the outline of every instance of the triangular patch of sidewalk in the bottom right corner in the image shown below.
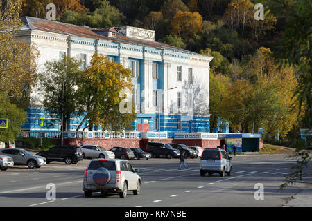
<svg viewBox="0 0 312 221"><path fill-rule="evenodd" d="M312 207L312 184L293 195L283 207Z"/></svg>

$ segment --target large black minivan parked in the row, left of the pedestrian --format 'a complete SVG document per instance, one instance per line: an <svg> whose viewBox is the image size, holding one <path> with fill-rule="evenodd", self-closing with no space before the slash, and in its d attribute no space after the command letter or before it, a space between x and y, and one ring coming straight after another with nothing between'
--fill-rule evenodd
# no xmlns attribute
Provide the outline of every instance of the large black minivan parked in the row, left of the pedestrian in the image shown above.
<svg viewBox="0 0 312 221"><path fill-rule="evenodd" d="M164 143L148 142L148 144L146 145L146 152L150 153L152 157L159 157L161 155L164 155L168 159L180 156L179 150L175 150L174 148L172 148L172 146L170 146L170 144Z"/></svg>

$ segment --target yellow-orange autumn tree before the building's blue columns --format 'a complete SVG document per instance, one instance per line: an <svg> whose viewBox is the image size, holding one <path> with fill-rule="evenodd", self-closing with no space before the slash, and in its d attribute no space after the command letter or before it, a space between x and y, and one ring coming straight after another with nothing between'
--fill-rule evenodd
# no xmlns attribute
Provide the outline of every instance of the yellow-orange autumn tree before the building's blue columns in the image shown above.
<svg viewBox="0 0 312 221"><path fill-rule="evenodd" d="M130 111L124 113L119 108L127 96L130 98L130 93L126 97L120 95L123 91L132 91L131 77L130 69L110 62L104 55L94 54L87 70L76 78L76 97L80 104L80 113L86 113L77 131L86 121L85 128L89 128L89 131L92 131L94 126L101 126L103 131L131 128L131 123L136 117L132 101L132 108L124 106L130 108Z"/></svg>

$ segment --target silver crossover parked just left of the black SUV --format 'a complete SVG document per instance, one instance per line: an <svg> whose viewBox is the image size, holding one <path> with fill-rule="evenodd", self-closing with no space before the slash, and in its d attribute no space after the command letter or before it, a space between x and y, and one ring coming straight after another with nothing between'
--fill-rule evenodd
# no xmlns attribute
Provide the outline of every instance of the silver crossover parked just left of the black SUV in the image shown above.
<svg viewBox="0 0 312 221"><path fill-rule="evenodd" d="M39 155L33 155L24 149L1 149L0 154L12 157L15 165L26 165L30 169L36 167L39 168L46 164L46 158Z"/></svg>

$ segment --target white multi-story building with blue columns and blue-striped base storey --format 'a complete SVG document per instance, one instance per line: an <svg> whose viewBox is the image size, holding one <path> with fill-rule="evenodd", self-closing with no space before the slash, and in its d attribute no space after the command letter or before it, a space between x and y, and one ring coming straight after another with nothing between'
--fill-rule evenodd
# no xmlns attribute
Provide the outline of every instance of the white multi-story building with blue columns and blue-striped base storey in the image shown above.
<svg viewBox="0 0 312 221"><path fill-rule="evenodd" d="M135 76L132 79L137 112L137 119L132 123L135 131L157 131L160 110L160 131L167 131L169 137L177 131L209 132L209 61L212 57L159 43L153 30L131 26L96 29L34 17L21 20L24 26L17 37L39 50L39 71L44 70L46 61L64 55L80 58L81 68L86 68L95 52L130 68ZM198 88L200 93L192 92ZM49 111L40 108L41 101L35 88L28 121L23 126L25 131L42 129L38 125L40 117L46 121L53 118ZM80 119L81 116L73 115L66 130L75 131ZM45 131L59 129L59 124L44 128Z"/></svg>

